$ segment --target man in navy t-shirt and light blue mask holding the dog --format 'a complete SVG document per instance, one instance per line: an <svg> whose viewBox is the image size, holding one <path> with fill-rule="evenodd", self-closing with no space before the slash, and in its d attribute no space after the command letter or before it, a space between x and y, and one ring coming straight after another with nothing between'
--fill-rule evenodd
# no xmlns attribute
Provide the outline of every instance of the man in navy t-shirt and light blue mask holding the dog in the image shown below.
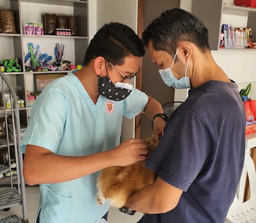
<svg viewBox="0 0 256 223"><path fill-rule="evenodd" d="M224 222L245 152L237 85L215 63L207 28L189 12L166 10L143 41L165 84L191 89L147 160L157 181L131 195L125 207L147 213L140 223Z"/></svg>

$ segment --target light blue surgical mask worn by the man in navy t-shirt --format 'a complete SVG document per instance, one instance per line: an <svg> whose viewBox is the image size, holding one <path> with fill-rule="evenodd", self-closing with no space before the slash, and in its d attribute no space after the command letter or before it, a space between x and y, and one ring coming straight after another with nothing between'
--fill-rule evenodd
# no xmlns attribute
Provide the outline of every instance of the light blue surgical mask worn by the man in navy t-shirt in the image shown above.
<svg viewBox="0 0 256 223"><path fill-rule="evenodd" d="M187 77L187 67L189 66L189 60L187 60L185 77L182 77L179 80L177 80L177 78L173 75L173 72L172 72L172 66L178 51L179 51L179 48L177 48L175 56L173 57L172 65L166 69L159 70L159 74L163 82L165 82L165 84L168 85L169 87L172 86L173 88L178 88L178 89L190 88L189 77Z"/></svg>

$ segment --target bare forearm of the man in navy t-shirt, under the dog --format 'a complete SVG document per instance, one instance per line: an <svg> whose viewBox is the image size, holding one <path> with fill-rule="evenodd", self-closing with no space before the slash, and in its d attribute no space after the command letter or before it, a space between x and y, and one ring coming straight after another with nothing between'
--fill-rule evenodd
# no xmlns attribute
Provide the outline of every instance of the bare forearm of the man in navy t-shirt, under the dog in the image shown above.
<svg viewBox="0 0 256 223"><path fill-rule="evenodd" d="M182 192L158 177L154 184L131 195L125 207L147 214L166 213L177 206Z"/></svg>

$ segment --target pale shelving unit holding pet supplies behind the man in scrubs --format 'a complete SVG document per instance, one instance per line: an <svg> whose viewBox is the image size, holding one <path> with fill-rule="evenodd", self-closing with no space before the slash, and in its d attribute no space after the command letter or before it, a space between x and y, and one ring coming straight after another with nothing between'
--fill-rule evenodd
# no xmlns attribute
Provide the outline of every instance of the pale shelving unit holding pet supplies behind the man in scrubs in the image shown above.
<svg viewBox="0 0 256 223"><path fill-rule="evenodd" d="M24 56L29 52L27 44L38 44L41 51L52 56L51 65L56 61L54 47L57 43L65 45L62 60L72 64L83 64L88 46L88 1L83 0L0 0L4 9L12 9L15 16L17 34L0 33L0 61L3 59L19 60L20 72L4 73L20 98L25 100L25 107L20 108L20 121L27 126L31 107L27 107L26 92L35 92L36 74L66 74L69 71L26 72ZM74 15L77 17L79 36L25 35L24 22L42 23L44 13L55 15ZM17 88L20 87L20 88Z"/></svg>

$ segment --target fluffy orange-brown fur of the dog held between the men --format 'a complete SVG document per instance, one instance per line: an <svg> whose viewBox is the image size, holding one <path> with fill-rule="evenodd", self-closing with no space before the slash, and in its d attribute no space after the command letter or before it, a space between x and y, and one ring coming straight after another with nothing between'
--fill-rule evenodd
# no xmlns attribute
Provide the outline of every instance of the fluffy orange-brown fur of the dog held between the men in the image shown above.
<svg viewBox="0 0 256 223"><path fill-rule="evenodd" d="M154 137L148 138L148 154L154 150L156 143ZM113 207L123 207L127 198L137 190L152 184L157 174L145 167L145 160L138 161L126 167L108 167L101 171L97 181L97 201L99 205L110 200Z"/></svg>

